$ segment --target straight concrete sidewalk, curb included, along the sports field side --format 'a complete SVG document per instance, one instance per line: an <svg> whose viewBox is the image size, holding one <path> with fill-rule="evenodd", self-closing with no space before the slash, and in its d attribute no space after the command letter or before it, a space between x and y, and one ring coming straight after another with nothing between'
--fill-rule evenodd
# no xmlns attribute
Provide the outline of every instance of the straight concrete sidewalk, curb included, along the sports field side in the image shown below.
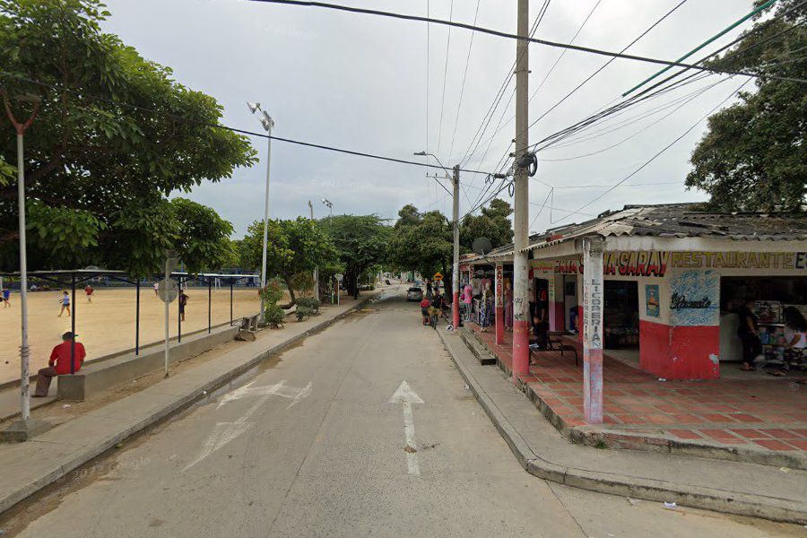
<svg viewBox="0 0 807 538"><path fill-rule="evenodd" d="M124 439L237 381L262 360L361 308L382 291L359 300L343 300L342 305L323 308L321 315L304 322L290 321L282 330L86 412L33 440L0 445L0 468L4 470L0 473L0 513Z"/></svg>

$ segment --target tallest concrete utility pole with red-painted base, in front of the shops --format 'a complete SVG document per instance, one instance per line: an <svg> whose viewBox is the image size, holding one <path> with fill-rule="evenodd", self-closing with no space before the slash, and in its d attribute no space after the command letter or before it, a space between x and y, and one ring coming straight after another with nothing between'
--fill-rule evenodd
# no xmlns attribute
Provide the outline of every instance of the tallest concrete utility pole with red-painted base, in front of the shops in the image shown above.
<svg viewBox="0 0 807 538"><path fill-rule="evenodd" d="M529 145L529 1L518 0L516 41L516 163L525 157ZM529 267L524 251L529 240L529 177L525 166L516 164L515 215L513 219L513 383L530 369Z"/></svg>

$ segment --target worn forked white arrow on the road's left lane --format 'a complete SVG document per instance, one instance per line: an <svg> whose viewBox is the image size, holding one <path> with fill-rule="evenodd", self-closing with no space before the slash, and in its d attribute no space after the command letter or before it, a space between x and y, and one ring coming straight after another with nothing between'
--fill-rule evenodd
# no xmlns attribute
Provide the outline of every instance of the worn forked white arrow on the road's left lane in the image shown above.
<svg viewBox="0 0 807 538"><path fill-rule="evenodd" d="M279 383L275 383L274 385L269 386L253 386L255 381L249 383L245 386L240 386L236 390L232 391L231 393L224 395L221 398L221 402L216 407L219 409L221 405L227 404L228 402L232 402L234 400L239 400L245 396L252 396L252 395L259 395L260 397L256 401L255 404L252 404L247 412L241 415L238 419L233 422L216 422L216 427L213 429L213 432L208 436L208 438L204 441L202 445L202 450L199 451L199 455L196 456L194 461L187 464L183 472L187 471L195 464L198 464L207 456L210 456L218 450L219 448L223 447L224 445L228 444L234 438L239 437L242 433L249 430L252 426L252 422L247 422L249 417L257 412L260 409L261 405L265 404L266 401L273 395L282 396L284 398L290 398L291 404L286 409L289 409L292 405L299 403L299 401L308 395L311 394L312 385L311 382L308 382L308 385L303 388L294 388L293 386L285 386L285 381L281 381Z"/></svg>

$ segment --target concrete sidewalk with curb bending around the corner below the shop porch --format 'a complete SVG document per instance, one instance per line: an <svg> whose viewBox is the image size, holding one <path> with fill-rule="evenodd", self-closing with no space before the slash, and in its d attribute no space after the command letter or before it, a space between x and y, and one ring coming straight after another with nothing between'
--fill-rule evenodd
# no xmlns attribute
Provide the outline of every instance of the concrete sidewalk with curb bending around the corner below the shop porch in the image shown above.
<svg viewBox="0 0 807 538"><path fill-rule="evenodd" d="M807 473L767 465L598 449L564 438L496 367L440 331L456 368L525 470L545 480L629 498L807 523Z"/></svg>

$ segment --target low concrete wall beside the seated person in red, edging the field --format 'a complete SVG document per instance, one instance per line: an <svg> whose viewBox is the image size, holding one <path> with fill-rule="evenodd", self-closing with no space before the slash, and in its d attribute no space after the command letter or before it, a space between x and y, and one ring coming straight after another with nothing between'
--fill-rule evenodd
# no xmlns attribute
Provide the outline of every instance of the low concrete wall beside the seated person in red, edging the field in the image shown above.
<svg viewBox="0 0 807 538"><path fill-rule="evenodd" d="M210 351L220 343L230 342L238 334L238 327L225 326L211 334L186 336L181 343L172 343L169 350L169 363L190 359ZM140 356L133 354L117 355L104 360L85 363L86 366L74 375L57 377L57 397L60 400L82 402L85 395L100 392L110 387L128 383L163 368L165 351L161 346L153 346Z"/></svg>

